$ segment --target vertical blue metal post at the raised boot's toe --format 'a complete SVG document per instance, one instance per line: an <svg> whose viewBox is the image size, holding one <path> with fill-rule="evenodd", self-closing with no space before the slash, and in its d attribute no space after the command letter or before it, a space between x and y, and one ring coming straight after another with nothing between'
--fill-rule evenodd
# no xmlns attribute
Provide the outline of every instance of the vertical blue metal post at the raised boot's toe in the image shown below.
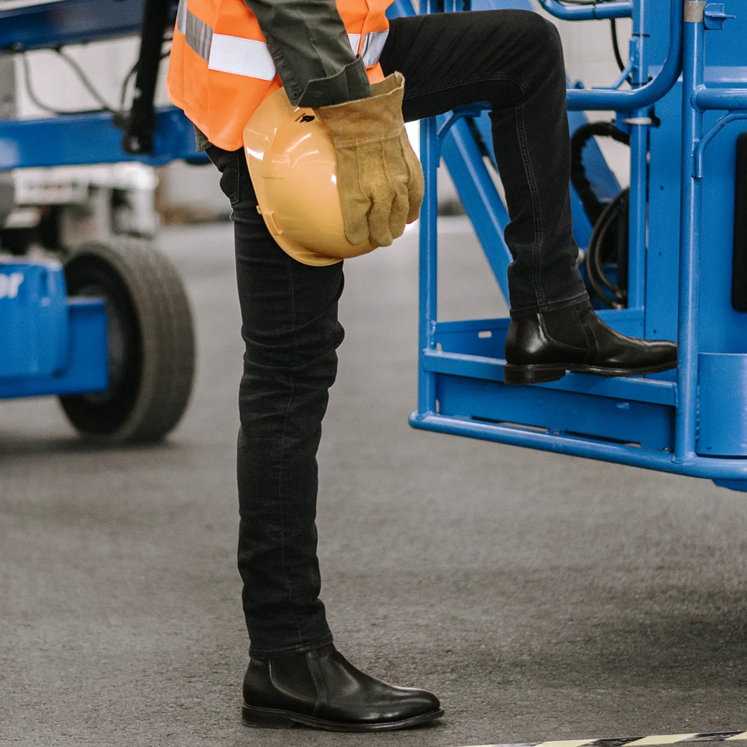
<svg viewBox="0 0 747 747"><path fill-rule="evenodd" d="M695 455L698 397L698 264L701 238L701 180L695 179L695 148L703 114L692 106L692 94L703 84L704 27L684 23L682 73L682 161L680 214L680 297L678 314L678 403L675 419L675 461Z"/></svg>

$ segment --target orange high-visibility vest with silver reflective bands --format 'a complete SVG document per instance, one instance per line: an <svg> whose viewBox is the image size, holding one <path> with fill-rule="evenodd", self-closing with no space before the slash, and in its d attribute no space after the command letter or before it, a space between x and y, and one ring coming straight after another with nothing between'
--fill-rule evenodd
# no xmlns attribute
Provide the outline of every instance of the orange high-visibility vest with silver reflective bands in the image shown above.
<svg viewBox="0 0 747 747"><path fill-rule="evenodd" d="M391 0L337 0L350 46L371 82L382 80L379 55ZM171 101L224 150L242 146L252 112L282 84L257 19L244 0L179 0L169 61Z"/></svg>

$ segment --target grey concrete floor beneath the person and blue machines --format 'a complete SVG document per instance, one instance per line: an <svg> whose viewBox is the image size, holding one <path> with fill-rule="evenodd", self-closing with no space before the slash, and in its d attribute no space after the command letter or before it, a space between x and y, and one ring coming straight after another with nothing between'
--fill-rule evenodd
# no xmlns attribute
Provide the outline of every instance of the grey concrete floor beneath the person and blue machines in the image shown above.
<svg viewBox="0 0 747 747"><path fill-rule="evenodd" d="M464 219L444 317L504 310ZM441 696L409 732L241 725L241 369L228 225L169 229L199 373L163 445L0 406L0 744L453 747L747 729L747 496L410 430L416 232L347 264L320 453L323 598L362 669Z"/></svg>

